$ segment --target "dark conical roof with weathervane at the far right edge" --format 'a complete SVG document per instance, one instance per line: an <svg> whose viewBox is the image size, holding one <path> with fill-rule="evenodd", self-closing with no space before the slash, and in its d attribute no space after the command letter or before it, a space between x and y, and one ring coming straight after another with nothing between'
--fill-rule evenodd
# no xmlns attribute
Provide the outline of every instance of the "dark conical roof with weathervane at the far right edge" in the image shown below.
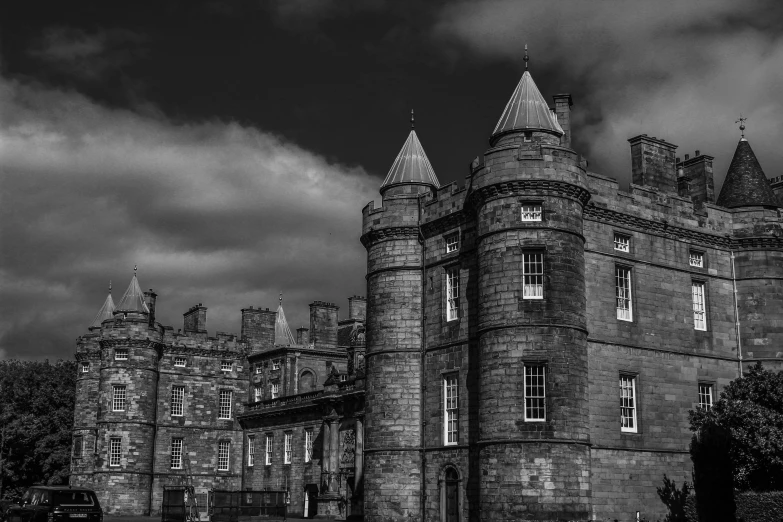
<svg viewBox="0 0 783 522"><path fill-rule="evenodd" d="M734 151L717 204L727 208L779 206L769 180L745 138Z"/></svg>

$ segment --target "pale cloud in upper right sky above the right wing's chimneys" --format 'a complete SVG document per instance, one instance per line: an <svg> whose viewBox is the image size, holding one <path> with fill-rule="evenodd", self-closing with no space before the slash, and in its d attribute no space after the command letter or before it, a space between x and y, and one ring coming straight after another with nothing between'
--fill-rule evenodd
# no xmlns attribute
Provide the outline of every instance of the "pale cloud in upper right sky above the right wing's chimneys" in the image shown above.
<svg viewBox="0 0 783 522"><path fill-rule="evenodd" d="M783 173L781 22L773 2L498 0L444 7L434 34L479 60L519 64L529 44L545 94L577 94L577 146L591 168L627 183L626 140L646 133L680 156L715 156L720 187L740 112L767 176Z"/></svg>

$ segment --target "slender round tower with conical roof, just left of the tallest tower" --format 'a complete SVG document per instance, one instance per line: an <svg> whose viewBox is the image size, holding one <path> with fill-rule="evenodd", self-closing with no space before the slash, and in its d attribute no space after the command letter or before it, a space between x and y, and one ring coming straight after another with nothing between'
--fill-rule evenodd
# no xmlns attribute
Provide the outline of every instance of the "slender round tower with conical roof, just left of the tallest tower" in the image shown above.
<svg viewBox="0 0 783 522"><path fill-rule="evenodd" d="M363 211L367 248L364 517L421 516L422 263L419 212L439 186L416 132Z"/></svg>

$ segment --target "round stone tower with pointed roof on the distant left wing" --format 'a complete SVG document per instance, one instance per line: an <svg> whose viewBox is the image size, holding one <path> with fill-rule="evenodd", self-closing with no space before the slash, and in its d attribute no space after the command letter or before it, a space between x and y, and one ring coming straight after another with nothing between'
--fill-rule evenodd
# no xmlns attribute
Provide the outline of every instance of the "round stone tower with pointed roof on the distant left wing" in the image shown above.
<svg viewBox="0 0 783 522"><path fill-rule="evenodd" d="M102 323L96 491L111 514L149 514L161 334L134 272Z"/></svg>

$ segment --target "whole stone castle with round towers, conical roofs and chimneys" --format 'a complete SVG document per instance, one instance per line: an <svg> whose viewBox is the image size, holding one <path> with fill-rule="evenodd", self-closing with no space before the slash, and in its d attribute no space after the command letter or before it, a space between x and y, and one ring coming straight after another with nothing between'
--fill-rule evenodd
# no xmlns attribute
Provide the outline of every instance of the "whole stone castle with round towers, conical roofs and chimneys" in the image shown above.
<svg viewBox="0 0 783 522"><path fill-rule="evenodd" d="M306 517L662 517L688 410L783 369L783 179L743 134L716 199L711 156L642 134L621 191L553 98L526 70L464 186L411 129L362 210L347 319L316 301L294 336L251 307L210 337L199 304L174 333L134 275L77 343L72 483L113 513L158 513L189 474Z"/></svg>

